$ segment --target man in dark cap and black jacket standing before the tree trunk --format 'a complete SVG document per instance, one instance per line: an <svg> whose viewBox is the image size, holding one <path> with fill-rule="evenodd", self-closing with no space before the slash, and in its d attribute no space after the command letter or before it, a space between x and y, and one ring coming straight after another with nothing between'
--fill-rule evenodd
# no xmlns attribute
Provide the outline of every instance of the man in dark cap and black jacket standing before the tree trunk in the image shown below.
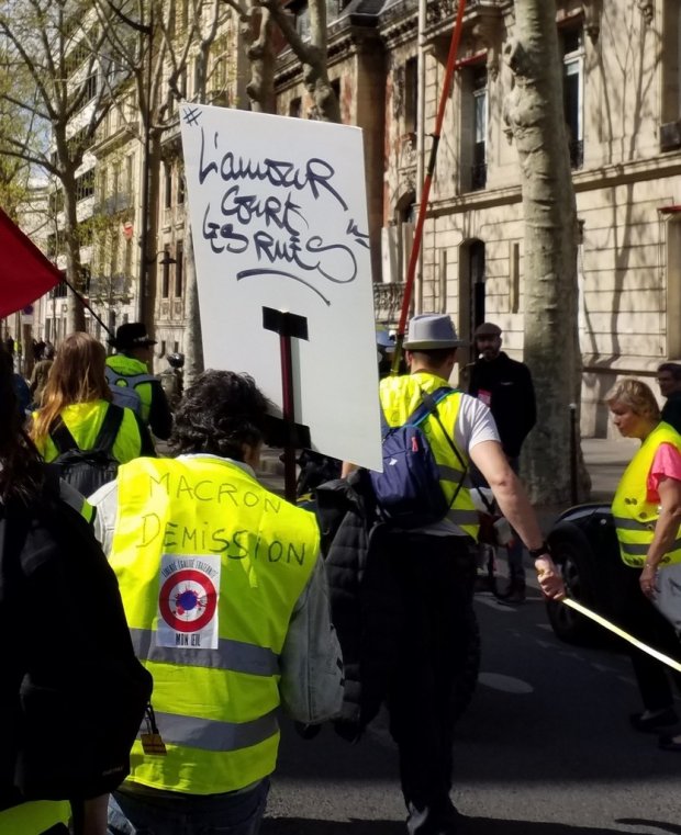
<svg viewBox="0 0 681 835"><path fill-rule="evenodd" d="M521 447L537 420L535 390L529 369L501 350L501 328L483 321L473 335L479 354L471 368L468 393L487 404L504 454L517 474ZM509 587L501 595L509 602L525 600L523 544L518 537L507 546Z"/></svg>

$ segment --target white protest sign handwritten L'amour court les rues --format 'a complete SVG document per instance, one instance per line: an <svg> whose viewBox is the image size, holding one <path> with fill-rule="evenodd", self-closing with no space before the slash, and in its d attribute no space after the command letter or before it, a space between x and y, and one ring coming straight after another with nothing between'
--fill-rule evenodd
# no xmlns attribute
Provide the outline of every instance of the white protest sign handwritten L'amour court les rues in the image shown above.
<svg viewBox="0 0 681 835"><path fill-rule="evenodd" d="M205 366L248 372L281 414L263 312L304 317L295 421L320 452L380 470L361 131L196 104L180 120Z"/></svg>

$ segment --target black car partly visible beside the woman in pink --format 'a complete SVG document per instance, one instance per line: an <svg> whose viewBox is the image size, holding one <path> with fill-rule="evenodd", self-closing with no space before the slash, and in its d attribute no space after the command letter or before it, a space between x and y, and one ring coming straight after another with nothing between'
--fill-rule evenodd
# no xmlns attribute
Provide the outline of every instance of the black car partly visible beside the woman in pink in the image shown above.
<svg viewBox="0 0 681 835"><path fill-rule="evenodd" d="M569 596L616 623L615 589L626 567L619 558L610 505L578 505L566 510L554 524L548 542ZM603 641L604 630L573 609L555 600L548 600L546 607L561 641L580 645Z"/></svg>

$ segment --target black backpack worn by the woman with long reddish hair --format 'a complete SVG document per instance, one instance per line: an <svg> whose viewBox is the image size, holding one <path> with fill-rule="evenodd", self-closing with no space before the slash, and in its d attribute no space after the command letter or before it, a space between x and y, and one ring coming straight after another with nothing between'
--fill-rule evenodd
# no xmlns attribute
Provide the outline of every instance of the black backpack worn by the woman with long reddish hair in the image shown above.
<svg viewBox="0 0 681 835"><path fill-rule="evenodd" d="M123 409L109 404L91 450L81 450L64 422L49 433L59 453L53 464L62 478L82 496L91 496L102 484L116 477L120 462L113 456L113 444L122 422Z"/></svg>

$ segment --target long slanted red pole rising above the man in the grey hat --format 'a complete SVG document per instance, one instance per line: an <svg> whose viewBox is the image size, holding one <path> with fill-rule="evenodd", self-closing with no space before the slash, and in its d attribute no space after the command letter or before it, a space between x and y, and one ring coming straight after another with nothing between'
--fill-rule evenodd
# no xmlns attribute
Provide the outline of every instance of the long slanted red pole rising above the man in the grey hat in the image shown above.
<svg viewBox="0 0 681 835"><path fill-rule="evenodd" d="M421 203L418 205L418 217L416 218L416 228L414 229L414 242L412 245L412 252L409 259L409 268L406 271L406 283L404 285L404 297L402 300L402 312L400 314L400 323L398 325L398 334L395 336L395 350L392 358L391 374L398 374L400 369L400 359L402 358L402 342L404 341L404 331L406 329L406 317L409 315L409 306L412 301L412 291L414 287L414 277L416 274L416 263L418 261L418 252L421 251L421 240L423 238L423 224L425 223L425 213L428 207L428 196L431 194L431 184L433 182L433 173L435 172L435 160L437 158L437 146L439 145L439 137L443 129L443 121L445 119L445 108L447 106L447 100L449 99L449 92L451 90L451 79L454 78L454 70L456 68L456 56L459 52L459 42L461 40L461 27L464 24L464 12L466 11L466 0L458 0L457 15L454 29L451 30L451 41L449 43L449 55L447 56L447 67L445 70L445 81L443 83L443 91L439 97L439 106L437 109L437 117L435 120L435 129L433 131L433 145L431 147L431 155L428 157L428 166L426 169L426 176L423 181L423 191L421 193Z"/></svg>

